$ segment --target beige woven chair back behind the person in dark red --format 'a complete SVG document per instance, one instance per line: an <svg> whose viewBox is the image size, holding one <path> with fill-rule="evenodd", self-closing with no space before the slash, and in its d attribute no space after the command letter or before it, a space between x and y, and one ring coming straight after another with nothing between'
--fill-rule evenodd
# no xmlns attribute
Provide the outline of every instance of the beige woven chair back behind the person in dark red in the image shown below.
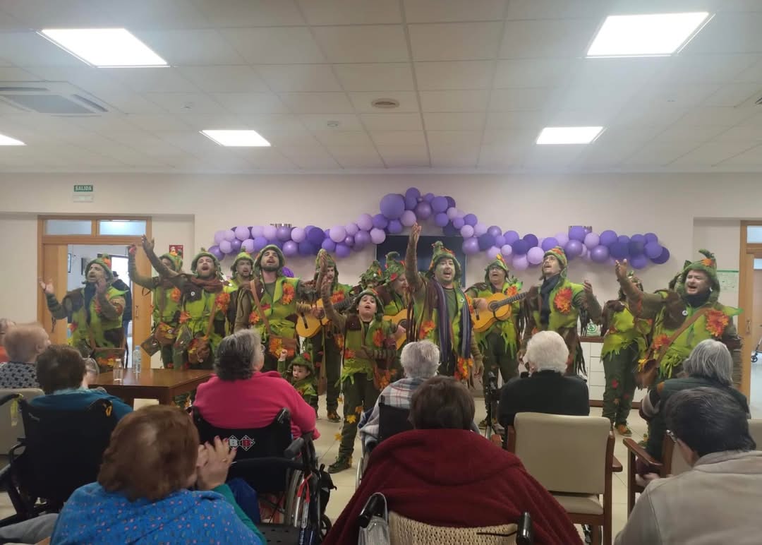
<svg viewBox="0 0 762 545"><path fill-rule="evenodd" d="M436 545L515 545L516 524L472 528L431 526L395 512L389 513L389 540L392 545L435 543ZM500 535L485 535L500 534ZM510 534L510 535L509 535Z"/></svg>

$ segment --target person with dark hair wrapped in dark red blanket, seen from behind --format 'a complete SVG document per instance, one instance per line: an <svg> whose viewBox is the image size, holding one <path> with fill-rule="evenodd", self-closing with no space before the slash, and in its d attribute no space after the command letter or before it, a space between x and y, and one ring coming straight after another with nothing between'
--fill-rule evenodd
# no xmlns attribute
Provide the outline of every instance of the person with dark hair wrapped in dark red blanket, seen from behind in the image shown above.
<svg viewBox="0 0 762 545"><path fill-rule="evenodd" d="M581 543L550 492L520 460L471 430L474 402L466 386L433 377L411 400L413 430L379 444L360 487L323 543L357 543L360 511L374 492L389 511L448 527L514 524L529 512L534 543Z"/></svg>

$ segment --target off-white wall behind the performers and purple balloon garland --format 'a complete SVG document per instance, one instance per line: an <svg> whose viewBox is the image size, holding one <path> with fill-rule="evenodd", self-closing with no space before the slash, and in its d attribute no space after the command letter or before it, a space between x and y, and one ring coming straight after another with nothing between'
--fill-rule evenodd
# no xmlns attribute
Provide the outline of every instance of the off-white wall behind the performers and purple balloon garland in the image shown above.
<svg viewBox="0 0 762 545"><path fill-rule="evenodd" d="M94 202L72 202L73 184L94 184ZM707 247L718 255L720 268L738 268L735 223L701 223L757 219L762 184L757 175L0 175L0 250L12 256L0 283L0 309L13 309L20 319L34 319L37 287L35 248L37 213L135 214L154 217L158 249L185 245L186 269L200 246L213 244L217 229L238 225L293 223L329 227L373 213L383 194L411 185L421 191L453 196L458 207L476 213L487 225L552 236L570 225L592 225L633 234L653 231L670 248L672 259L648 268L641 276L648 290L663 287L684 259L695 259ZM21 214L21 216L20 216ZM24 215L26 214L26 215ZM32 216L29 216L32 214ZM699 223L696 223L696 221ZM735 249L725 244L731 237ZM433 223L424 234L436 234ZM734 256L735 253L735 256ZM341 278L354 281L373 258L373 249L340 261ZM466 281L482 277L484 256L469 261ZM295 258L290 268L312 275L312 259ZM229 265L226 266L226 270ZM536 281L536 269L521 276ZM574 261L572 279L589 278L600 299L613 297L616 284L610 268ZM726 301L730 304L736 301Z"/></svg>

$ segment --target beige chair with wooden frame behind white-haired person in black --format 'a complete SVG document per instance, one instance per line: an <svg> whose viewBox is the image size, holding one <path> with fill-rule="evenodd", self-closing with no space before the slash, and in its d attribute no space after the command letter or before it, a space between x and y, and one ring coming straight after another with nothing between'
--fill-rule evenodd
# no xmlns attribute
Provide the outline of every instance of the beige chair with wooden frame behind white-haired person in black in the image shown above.
<svg viewBox="0 0 762 545"><path fill-rule="evenodd" d="M508 450L511 446L573 523L592 526L593 543L600 540L600 527L603 542L611 543L614 438L608 418L520 412L509 434Z"/></svg>

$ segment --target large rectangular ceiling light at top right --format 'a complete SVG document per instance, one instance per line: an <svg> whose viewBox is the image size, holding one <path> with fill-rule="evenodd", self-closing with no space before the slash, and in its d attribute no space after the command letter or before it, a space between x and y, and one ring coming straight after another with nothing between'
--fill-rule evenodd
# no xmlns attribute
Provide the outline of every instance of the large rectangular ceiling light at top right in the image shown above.
<svg viewBox="0 0 762 545"><path fill-rule="evenodd" d="M668 56L709 22L706 11L610 15L588 50L591 56Z"/></svg>

